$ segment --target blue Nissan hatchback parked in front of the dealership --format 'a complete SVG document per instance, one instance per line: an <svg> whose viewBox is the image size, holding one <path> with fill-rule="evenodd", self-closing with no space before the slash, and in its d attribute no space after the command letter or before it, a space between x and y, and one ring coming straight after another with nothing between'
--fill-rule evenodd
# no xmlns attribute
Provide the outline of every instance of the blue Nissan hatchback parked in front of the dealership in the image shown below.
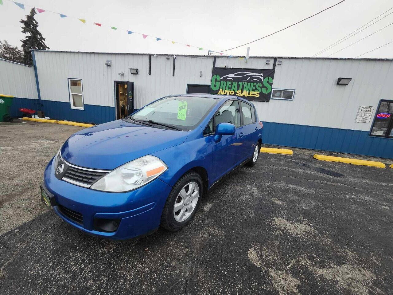
<svg viewBox="0 0 393 295"><path fill-rule="evenodd" d="M181 229L232 170L256 164L262 123L236 96L171 95L83 129L49 162L41 199L96 236L128 239Z"/></svg>

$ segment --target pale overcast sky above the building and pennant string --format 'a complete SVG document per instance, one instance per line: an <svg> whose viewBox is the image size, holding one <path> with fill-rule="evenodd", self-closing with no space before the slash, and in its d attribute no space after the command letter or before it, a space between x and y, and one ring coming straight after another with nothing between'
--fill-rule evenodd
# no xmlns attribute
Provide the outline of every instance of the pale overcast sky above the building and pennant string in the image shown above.
<svg viewBox="0 0 393 295"><path fill-rule="evenodd" d="M26 5L69 16L60 18L49 12L36 15L39 29L51 50L168 54L207 54L208 49L225 50L284 28L336 2L339 0L20 0ZM391 7L391 0L346 0L301 24L250 44L250 55L310 57ZM3 0L0 5L1 40L21 45L24 34L20 32L19 20L25 18L30 9L26 6L22 10ZM86 19L86 24L77 18ZM128 35L126 31L100 28L93 22L206 50L150 37L143 39L141 35ZM318 56L326 57L391 23L393 13ZM391 41L393 25L331 57L356 57ZM227 53L245 55L246 46ZM393 43L362 57L393 58Z"/></svg>

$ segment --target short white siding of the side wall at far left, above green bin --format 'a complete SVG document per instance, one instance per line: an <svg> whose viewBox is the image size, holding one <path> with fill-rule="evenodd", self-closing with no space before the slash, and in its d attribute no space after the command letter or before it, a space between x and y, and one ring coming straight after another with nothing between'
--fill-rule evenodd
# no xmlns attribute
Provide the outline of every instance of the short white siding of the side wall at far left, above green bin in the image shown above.
<svg viewBox="0 0 393 295"><path fill-rule="evenodd" d="M38 99L34 68L0 59L0 94Z"/></svg>

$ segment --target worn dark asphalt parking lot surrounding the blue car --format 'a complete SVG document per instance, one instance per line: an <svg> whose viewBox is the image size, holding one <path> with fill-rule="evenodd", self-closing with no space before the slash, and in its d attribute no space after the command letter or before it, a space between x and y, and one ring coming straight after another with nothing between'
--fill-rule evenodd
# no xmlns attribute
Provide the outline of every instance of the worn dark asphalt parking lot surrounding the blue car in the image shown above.
<svg viewBox="0 0 393 295"><path fill-rule="evenodd" d="M40 203L44 166L79 129L0 125L0 294L393 292L393 169L261 153L183 230L112 242Z"/></svg>

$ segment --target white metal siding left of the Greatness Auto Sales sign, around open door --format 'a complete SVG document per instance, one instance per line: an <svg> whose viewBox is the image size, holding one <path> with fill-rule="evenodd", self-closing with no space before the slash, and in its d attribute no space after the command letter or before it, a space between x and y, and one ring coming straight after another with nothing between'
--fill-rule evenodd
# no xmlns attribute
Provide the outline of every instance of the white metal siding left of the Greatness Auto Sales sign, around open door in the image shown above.
<svg viewBox="0 0 393 295"><path fill-rule="evenodd" d="M173 55L168 56L152 55L149 75L147 54L36 51L41 99L69 102L67 78L78 78L85 104L114 107L114 81L128 80L134 82L134 107L139 109L162 96L187 92L187 83L210 84L213 58L177 56L173 77ZM112 66L105 66L108 59ZM138 68L139 74L130 74L129 68Z"/></svg>

